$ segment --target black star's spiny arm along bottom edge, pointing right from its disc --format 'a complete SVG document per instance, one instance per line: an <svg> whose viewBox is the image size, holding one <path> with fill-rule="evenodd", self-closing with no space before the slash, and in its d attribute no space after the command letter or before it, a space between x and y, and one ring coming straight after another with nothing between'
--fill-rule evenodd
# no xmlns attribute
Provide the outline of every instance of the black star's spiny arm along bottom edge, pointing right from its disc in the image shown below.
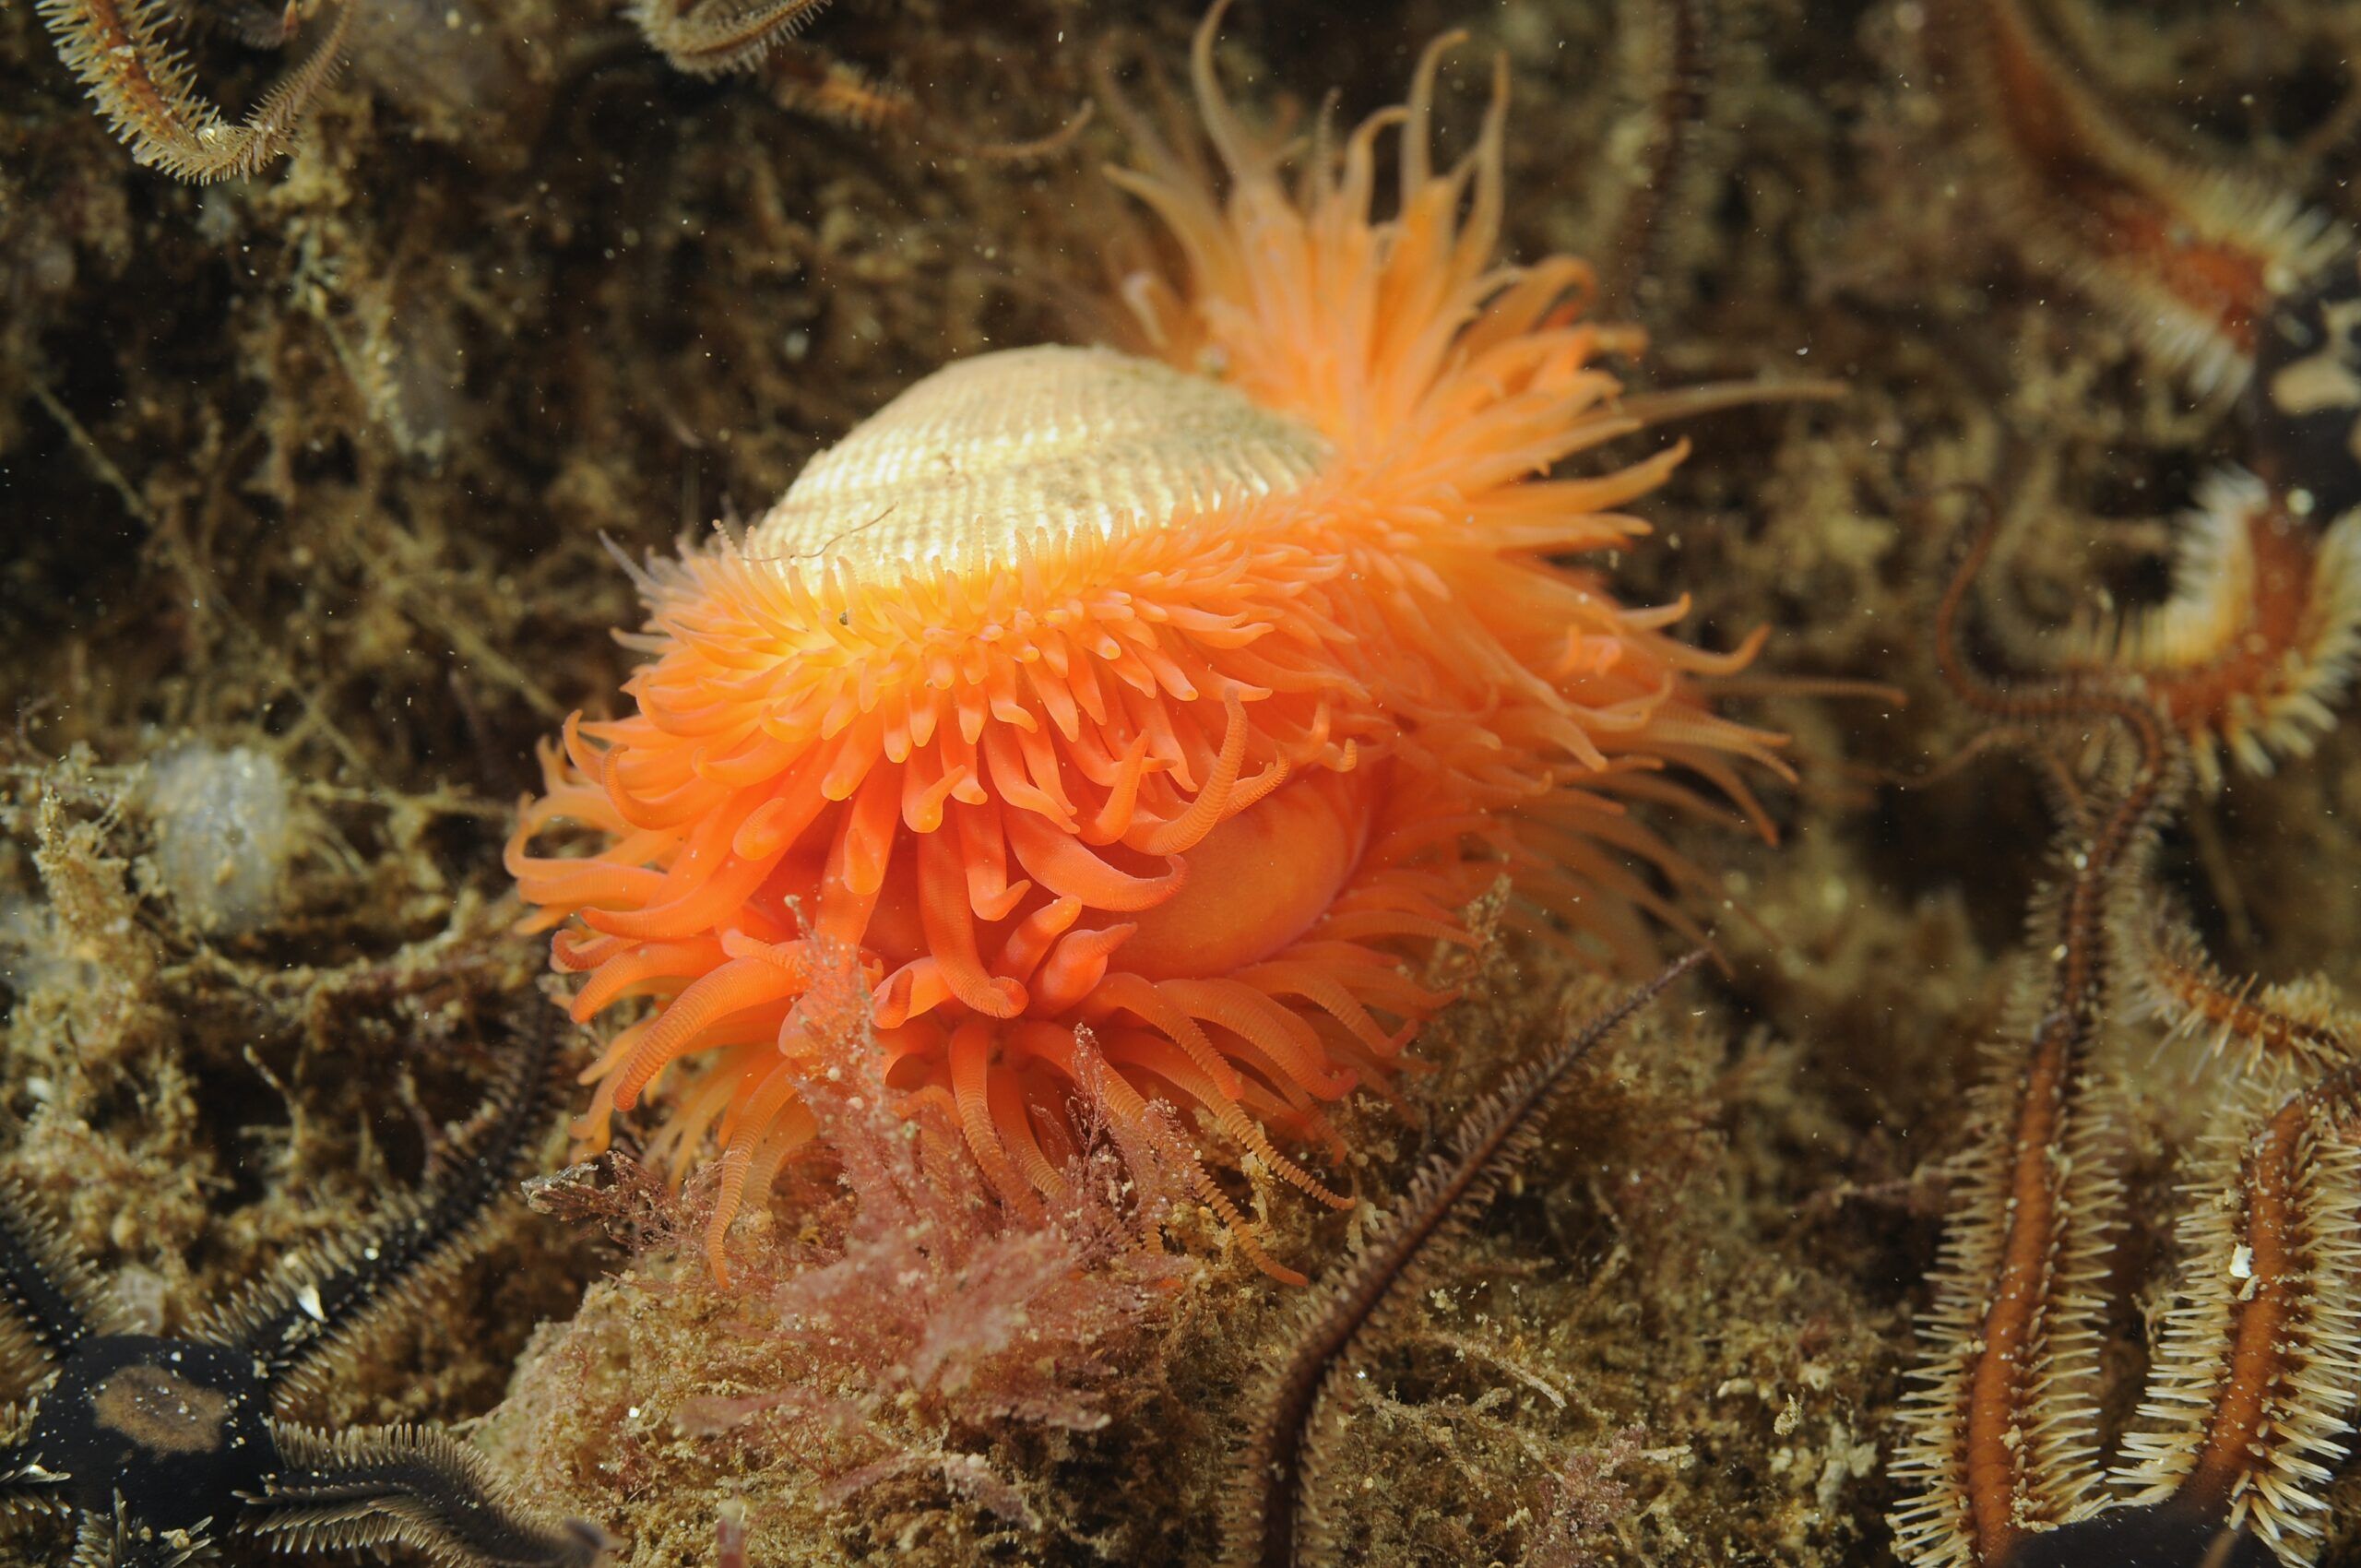
<svg viewBox="0 0 2361 1568"><path fill-rule="evenodd" d="M543 1523L472 1448L430 1426L328 1436L272 1424L283 1469L246 1497L243 1535L286 1551L399 1542L437 1563L593 1568L614 1540L583 1518Z"/></svg>

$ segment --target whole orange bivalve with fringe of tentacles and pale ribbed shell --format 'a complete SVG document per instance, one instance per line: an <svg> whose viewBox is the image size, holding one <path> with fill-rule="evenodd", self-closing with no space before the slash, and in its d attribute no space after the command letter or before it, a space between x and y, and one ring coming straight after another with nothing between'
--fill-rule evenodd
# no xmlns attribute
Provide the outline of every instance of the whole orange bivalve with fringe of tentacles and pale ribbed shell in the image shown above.
<svg viewBox="0 0 2361 1568"><path fill-rule="evenodd" d="M718 1145L718 1273L730 1216L826 1138L798 1084L871 1039L1018 1214L1062 1197L1084 1082L1119 1145L1171 1143L1162 1100L1341 1207L1287 1150L1339 1155L1329 1108L1447 1001L1405 959L1469 942L1506 874L1643 961L1672 909L1634 860L1686 869L1624 801L1686 798L1674 765L1752 808L1731 763L1771 737L1698 692L1750 649L1549 560L1641 531L1615 508L1681 453L1551 477L1639 430L1598 359L1641 338L1580 319L1580 262L1495 260L1499 99L1433 170L1428 52L1407 111L1291 196L1214 83L1216 19L1195 78L1228 196L1162 149L1119 175L1188 262L1129 290L1159 359L954 364L741 543L652 567L637 713L567 725L524 805L510 869L564 926L574 1015L656 999L586 1074L581 1138L661 1093L654 1155ZM560 822L595 855L529 852ZM848 961L869 1030L822 1018Z"/></svg>

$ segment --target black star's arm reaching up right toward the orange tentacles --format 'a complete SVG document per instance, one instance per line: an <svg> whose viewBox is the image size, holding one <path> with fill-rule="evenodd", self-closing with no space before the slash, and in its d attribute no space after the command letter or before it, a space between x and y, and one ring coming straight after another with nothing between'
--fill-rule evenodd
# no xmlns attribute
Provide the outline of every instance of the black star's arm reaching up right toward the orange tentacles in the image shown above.
<svg viewBox="0 0 2361 1568"><path fill-rule="evenodd" d="M489 1096L482 1131L427 1174L420 1197L357 1237L314 1249L283 1280L212 1313L196 1337L253 1351L264 1384L283 1393L375 1313L456 1268L545 1126L555 1053L557 1032L531 1030Z"/></svg>

